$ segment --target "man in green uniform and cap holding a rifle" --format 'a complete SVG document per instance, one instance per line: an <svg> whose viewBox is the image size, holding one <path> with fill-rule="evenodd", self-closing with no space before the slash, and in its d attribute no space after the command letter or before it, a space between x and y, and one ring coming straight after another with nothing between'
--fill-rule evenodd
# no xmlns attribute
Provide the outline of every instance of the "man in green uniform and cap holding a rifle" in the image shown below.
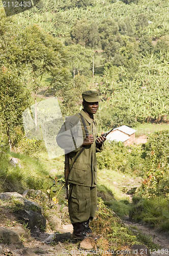
<svg viewBox="0 0 169 256"><path fill-rule="evenodd" d="M73 238L83 239L92 233L89 221L97 207L96 152L103 150L105 137L97 137L94 114L98 110L97 91L82 93L83 109L68 117L57 135L57 143L69 156L69 216Z"/></svg>

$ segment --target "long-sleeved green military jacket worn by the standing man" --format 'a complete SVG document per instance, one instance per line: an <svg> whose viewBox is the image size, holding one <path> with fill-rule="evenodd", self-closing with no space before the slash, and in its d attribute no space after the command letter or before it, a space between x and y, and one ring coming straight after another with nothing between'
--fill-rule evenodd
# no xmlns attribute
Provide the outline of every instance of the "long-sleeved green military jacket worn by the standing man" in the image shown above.
<svg viewBox="0 0 169 256"><path fill-rule="evenodd" d="M93 121L85 111L81 110L80 114L85 120L89 135L93 134L94 143L89 146L84 146L85 149L78 158L75 159L83 148L82 143L86 138L86 132L79 114L67 118L57 135L57 142L60 147L65 149L65 153L69 152L70 173L68 182L93 187L97 184L96 152L103 150L103 144L96 146L95 143L97 138L96 122ZM71 133L68 131L71 131Z"/></svg>

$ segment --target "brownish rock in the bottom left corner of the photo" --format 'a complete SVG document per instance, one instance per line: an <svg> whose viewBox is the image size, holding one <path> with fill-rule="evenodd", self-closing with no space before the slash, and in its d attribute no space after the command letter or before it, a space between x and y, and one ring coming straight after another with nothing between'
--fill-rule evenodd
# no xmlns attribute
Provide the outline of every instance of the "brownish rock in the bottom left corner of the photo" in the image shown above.
<svg viewBox="0 0 169 256"><path fill-rule="evenodd" d="M6 227L0 227L0 239L3 244L14 244L17 246L22 245L19 234Z"/></svg>

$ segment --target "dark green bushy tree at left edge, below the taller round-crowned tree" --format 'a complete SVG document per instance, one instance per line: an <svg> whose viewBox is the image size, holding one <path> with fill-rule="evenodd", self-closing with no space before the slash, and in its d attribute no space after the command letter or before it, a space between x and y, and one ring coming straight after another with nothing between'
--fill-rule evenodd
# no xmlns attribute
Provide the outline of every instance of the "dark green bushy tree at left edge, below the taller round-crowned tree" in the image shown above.
<svg viewBox="0 0 169 256"><path fill-rule="evenodd" d="M25 90L23 81L4 67L0 72L0 119L10 150L14 146L15 129L22 126L22 112L29 106L29 98L30 93Z"/></svg>

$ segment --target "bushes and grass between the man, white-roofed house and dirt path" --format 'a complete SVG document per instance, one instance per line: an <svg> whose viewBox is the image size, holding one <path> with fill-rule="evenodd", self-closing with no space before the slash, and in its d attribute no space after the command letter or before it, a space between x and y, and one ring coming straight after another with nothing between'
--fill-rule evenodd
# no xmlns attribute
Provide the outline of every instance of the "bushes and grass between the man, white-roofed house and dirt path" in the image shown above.
<svg viewBox="0 0 169 256"><path fill-rule="evenodd" d="M102 163L101 167L103 164L104 168L107 167L98 171L99 183L104 184L104 189L103 185L99 186L104 203L114 209L120 217L129 215L133 221L141 221L164 231L168 231L169 216L168 134L168 130L150 134L147 143L142 147L132 146L131 153L127 147L120 147L118 143L111 145L114 146L114 151L111 152L108 145L102 158L98 157L99 164ZM132 156L135 161L133 165ZM107 165L107 159L112 159L111 166ZM125 168L120 169L121 166ZM137 169L134 174L135 166ZM128 174L131 172L133 175L129 178ZM141 185L136 184L136 179L133 177L135 175L143 178L138 180L142 182ZM120 189L121 193L119 193ZM111 199L106 197L108 193L112 193ZM127 200L127 195L124 196L123 193L134 195L132 202L129 198Z"/></svg>

